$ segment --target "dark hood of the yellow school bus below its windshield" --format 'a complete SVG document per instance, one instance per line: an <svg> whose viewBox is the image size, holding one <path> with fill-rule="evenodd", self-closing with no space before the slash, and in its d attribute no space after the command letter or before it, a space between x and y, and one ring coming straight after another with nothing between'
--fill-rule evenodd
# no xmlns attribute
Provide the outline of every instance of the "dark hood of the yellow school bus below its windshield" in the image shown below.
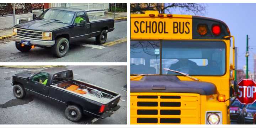
<svg viewBox="0 0 256 128"><path fill-rule="evenodd" d="M140 81L130 81L130 92L176 92L200 95L217 94L217 88L210 82L181 81L172 75L148 75Z"/></svg>

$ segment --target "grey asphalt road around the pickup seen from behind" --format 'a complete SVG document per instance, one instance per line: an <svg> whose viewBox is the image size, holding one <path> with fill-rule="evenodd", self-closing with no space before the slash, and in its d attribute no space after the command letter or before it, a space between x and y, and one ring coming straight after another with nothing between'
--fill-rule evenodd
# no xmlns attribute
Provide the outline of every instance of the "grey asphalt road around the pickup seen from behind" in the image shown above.
<svg viewBox="0 0 256 128"><path fill-rule="evenodd" d="M41 97L26 95L17 99L12 93L12 75L19 69L0 67L0 124L127 124L127 68L126 66L68 66L74 78L121 94L121 106L111 117L96 119L83 117L79 122L65 118L65 106L44 100Z"/></svg>

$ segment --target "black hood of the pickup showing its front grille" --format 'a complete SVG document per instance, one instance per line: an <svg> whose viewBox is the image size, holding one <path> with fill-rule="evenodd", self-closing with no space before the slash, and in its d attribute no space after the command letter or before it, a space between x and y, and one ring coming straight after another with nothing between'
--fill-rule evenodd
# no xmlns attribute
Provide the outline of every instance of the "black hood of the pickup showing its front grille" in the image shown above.
<svg viewBox="0 0 256 128"><path fill-rule="evenodd" d="M27 30L50 32L59 28L68 27L70 25L56 22L54 20L32 20L25 23L20 23L14 27L23 28Z"/></svg>

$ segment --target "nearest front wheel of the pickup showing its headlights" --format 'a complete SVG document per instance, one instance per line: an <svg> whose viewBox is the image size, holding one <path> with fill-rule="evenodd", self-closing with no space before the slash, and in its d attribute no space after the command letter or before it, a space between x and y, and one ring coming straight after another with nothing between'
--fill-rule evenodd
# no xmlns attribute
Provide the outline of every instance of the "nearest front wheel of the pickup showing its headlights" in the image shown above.
<svg viewBox="0 0 256 128"><path fill-rule="evenodd" d="M66 38L60 37L52 47L52 52L56 57L64 57L69 50L69 41Z"/></svg>

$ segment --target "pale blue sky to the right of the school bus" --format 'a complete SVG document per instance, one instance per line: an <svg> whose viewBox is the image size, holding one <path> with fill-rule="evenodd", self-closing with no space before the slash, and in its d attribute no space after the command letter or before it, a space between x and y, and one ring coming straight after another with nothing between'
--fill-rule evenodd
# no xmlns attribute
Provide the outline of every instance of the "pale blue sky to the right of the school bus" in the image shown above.
<svg viewBox="0 0 256 128"><path fill-rule="evenodd" d="M221 4L208 3L205 17L224 21L233 36L235 46L238 47L238 68L246 65L246 34L249 35L249 71L254 71L254 54L256 54L256 4ZM173 11L173 14L180 14Z"/></svg>

